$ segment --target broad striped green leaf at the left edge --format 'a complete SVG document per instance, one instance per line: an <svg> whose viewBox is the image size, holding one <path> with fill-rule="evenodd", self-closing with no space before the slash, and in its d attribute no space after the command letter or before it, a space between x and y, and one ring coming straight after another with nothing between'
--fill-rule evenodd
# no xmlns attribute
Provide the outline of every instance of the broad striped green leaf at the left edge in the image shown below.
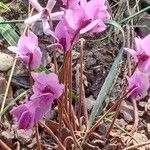
<svg viewBox="0 0 150 150"><path fill-rule="evenodd" d="M5 20L2 17L0 17L0 22L3 21ZM9 24L0 24L0 34L10 45L17 45L19 36Z"/></svg>

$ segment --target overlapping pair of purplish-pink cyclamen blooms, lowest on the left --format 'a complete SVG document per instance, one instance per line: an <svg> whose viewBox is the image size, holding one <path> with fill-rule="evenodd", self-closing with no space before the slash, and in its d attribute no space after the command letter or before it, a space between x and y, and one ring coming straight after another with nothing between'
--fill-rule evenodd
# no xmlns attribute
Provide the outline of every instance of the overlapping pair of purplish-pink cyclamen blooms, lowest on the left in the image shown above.
<svg viewBox="0 0 150 150"><path fill-rule="evenodd" d="M34 73L33 95L27 97L25 103L14 107L10 113L17 119L19 129L30 129L47 113L54 102L63 93L63 85L59 84L54 73Z"/></svg>

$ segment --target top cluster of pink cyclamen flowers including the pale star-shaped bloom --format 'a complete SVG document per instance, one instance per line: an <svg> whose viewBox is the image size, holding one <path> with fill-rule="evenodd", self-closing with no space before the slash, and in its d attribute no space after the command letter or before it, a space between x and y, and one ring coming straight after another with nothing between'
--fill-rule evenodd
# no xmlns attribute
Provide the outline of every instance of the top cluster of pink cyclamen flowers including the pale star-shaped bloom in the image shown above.
<svg viewBox="0 0 150 150"><path fill-rule="evenodd" d="M43 8L38 1L29 0L31 5L39 12L25 20L27 24L33 24L38 20L43 22L43 31L52 35L63 52L71 49L78 41L79 34L102 32L106 29L103 23L110 17L105 6L105 0L63 0L66 9L51 13L55 6L55 0L48 0L47 6ZM51 30L49 21L60 20L54 31Z"/></svg>

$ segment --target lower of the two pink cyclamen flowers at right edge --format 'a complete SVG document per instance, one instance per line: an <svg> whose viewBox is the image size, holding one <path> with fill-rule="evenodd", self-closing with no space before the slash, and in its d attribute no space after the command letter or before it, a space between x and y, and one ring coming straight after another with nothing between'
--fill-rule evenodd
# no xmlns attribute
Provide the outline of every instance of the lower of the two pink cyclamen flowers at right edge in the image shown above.
<svg viewBox="0 0 150 150"><path fill-rule="evenodd" d="M129 91L128 96L132 100L140 100L147 95L147 91L150 87L150 82L147 74L136 70L131 77L127 77Z"/></svg>

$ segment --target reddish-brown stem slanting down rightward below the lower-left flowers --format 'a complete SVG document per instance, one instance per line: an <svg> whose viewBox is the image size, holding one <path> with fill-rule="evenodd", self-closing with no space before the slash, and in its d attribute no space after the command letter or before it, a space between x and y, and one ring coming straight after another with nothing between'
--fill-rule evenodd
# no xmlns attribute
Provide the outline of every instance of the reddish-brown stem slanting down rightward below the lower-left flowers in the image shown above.
<svg viewBox="0 0 150 150"><path fill-rule="evenodd" d="M60 142L60 140L57 138L57 136L52 132L52 130L45 125L44 123L40 122L39 123L42 127L44 127L46 129L46 131L54 138L54 140L57 142L57 144L59 145L61 150L66 150L65 147L62 145L62 143Z"/></svg>

